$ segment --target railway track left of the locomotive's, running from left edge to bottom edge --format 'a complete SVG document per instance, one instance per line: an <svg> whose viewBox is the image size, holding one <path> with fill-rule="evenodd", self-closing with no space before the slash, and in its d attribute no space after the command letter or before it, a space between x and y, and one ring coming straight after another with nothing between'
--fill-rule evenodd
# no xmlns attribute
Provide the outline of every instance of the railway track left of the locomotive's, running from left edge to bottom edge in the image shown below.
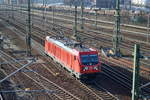
<svg viewBox="0 0 150 100"><path fill-rule="evenodd" d="M12 60L15 61L15 58L11 57L10 55L4 53L1 51L1 54L3 54L3 60L7 61L7 58L11 58ZM10 60L10 59L9 59ZM18 62L19 63L19 62ZM19 65L23 65L22 63L19 63ZM15 69L18 69L18 67L15 67L14 65L10 64L10 66L12 66ZM31 68L27 68L29 70L32 70ZM37 73L36 71L33 71L32 74L26 74L23 72L23 74L28 77L29 79L31 79L32 81L36 82L36 84L38 84L39 86L41 86L42 88L44 88L45 90L54 90L56 91L56 93L53 93L52 95L55 96L54 99L58 99L58 100L80 100L78 97L74 96L73 94L71 94L70 92L66 91L65 89L63 89L62 87L58 86L57 84L55 84L54 82L50 81L48 78L46 78L45 76ZM36 78L34 78L33 76L37 75L38 76L38 80ZM50 96L51 97L51 96Z"/></svg>

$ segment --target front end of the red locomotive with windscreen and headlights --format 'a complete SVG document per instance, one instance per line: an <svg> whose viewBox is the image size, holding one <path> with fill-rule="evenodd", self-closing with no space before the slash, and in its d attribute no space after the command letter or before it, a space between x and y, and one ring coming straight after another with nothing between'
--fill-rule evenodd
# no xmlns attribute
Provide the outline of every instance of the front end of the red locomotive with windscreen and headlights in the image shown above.
<svg viewBox="0 0 150 100"><path fill-rule="evenodd" d="M100 59L98 53L80 54L80 66L82 73L100 72Z"/></svg>

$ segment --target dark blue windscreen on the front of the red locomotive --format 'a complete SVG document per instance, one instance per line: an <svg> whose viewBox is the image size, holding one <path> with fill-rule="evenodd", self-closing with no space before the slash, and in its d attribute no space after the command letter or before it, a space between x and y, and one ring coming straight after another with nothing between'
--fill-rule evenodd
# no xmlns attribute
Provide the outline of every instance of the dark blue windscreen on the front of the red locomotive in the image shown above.
<svg viewBox="0 0 150 100"><path fill-rule="evenodd" d="M81 57L81 63L83 65L92 66L99 63L97 54L81 55L80 57Z"/></svg>

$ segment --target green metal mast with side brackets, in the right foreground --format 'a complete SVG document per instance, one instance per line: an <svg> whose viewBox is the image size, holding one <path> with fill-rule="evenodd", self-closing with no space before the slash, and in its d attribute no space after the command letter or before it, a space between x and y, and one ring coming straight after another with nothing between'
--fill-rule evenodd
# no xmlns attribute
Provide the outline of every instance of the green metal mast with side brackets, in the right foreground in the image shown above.
<svg viewBox="0 0 150 100"><path fill-rule="evenodd" d="M150 85L146 83L140 86L140 59L148 60L150 57L143 56L140 52L140 45L135 44L134 47L134 68L133 68L133 79L132 79L132 100L138 100L140 98L142 88Z"/></svg>

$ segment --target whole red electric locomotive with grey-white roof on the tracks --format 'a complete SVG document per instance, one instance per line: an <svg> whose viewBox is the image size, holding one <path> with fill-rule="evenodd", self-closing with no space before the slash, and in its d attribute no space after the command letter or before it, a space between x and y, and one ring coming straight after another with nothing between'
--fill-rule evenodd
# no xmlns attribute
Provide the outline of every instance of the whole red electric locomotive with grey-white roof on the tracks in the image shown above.
<svg viewBox="0 0 150 100"><path fill-rule="evenodd" d="M77 78L95 76L101 72L98 52L68 38L46 37L45 53Z"/></svg>

